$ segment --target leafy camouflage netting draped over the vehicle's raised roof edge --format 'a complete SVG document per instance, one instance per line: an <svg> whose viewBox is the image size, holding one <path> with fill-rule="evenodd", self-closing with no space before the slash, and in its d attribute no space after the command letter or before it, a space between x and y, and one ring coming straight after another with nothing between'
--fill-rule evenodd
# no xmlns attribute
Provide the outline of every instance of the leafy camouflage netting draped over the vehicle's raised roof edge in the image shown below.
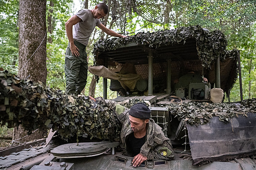
<svg viewBox="0 0 256 170"><path fill-rule="evenodd" d="M189 26L173 30L159 30L157 32L139 32L125 39L100 40L94 44L93 48L94 65L97 65L99 52L115 50L117 47L130 42L158 48L163 45L185 44L188 39L196 41L197 54L202 61L203 67L209 68L211 62L218 57L223 61L226 57L236 58L238 56L238 50L226 50L227 40L222 32L216 30L208 31L201 26Z"/></svg>

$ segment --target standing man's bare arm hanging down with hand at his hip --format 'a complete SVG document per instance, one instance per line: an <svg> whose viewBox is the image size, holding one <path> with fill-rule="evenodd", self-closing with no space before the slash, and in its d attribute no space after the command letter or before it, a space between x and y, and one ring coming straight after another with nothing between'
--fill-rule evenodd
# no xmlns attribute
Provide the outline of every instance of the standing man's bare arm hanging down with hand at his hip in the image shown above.
<svg viewBox="0 0 256 170"><path fill-rule="evenodd" d="M71 50L72 54L74 56L77 56L77 57L80 56L79 52L78 52L79 49L74 44L72 29L73 29L73 26L76 25L80 21L81 21L81 19L78 16L73 15L65 23L65 28L66 28L66 32L67 32L67 39L68 39L69 44L70 44L70 50Z"/></svg>

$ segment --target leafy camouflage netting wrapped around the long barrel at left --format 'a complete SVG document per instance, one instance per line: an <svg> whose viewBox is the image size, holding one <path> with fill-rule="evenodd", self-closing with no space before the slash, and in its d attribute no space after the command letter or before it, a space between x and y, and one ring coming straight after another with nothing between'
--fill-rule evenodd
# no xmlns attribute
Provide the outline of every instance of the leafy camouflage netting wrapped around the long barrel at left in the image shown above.
<svg viewBox="0 0 256 170"><path fill-rule="evenodd" d="M83 136L115 141L120 138L119 121L110 110L89 97L65 95L55 90L20 80L8 71L0 71L0 125L22 125L31 133L59 129L64 140Z"/></svg>

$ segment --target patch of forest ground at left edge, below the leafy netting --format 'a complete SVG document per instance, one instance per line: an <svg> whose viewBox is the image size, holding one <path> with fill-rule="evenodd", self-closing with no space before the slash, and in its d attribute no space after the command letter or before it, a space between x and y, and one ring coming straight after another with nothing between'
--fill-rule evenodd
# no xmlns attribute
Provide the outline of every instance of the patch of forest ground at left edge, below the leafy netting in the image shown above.
<svg viewBox="0 0 256 170"><path fill-rule="evenodd" d="M0 148L10 146L12 138L13 128L7 128L7 126L0 127Z"/></svg>

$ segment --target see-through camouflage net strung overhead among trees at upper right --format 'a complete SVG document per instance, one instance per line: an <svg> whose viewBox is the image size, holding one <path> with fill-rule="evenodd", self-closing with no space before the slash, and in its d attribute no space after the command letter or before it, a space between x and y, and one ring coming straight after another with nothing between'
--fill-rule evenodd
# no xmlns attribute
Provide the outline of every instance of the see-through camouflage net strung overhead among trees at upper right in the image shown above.
<svg viewBox="0 0 256 170"><path fill-rule="evenodd" d="M112 1L111 17L117 21L121 33L127 19L136 13L143 20L176 27L201 25L225 33L248 28L256 21L255 0L126 0Z"/></svg>

